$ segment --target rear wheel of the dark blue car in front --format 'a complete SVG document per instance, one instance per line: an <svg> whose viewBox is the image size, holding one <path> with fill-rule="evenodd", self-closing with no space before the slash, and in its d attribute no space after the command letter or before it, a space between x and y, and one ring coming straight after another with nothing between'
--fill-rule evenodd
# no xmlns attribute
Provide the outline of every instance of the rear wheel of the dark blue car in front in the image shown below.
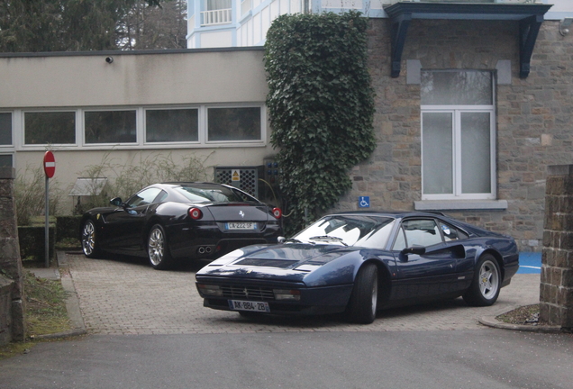
<svg viewBox="0 0 573 389"><path fill-rule="evenodd" d="M468 305L489 306L496 303L501 289L501 271L496 258L484 254L479 258L474 278L463 299Z"/></svg>

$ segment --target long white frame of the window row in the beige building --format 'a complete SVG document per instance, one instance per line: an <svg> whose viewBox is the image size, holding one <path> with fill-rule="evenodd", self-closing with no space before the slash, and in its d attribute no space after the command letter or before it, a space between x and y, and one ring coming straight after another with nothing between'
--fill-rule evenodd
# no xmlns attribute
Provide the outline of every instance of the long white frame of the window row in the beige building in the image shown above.
<svg viewBox="0 0 573 389"><path fill-rule="evenodd" d="M207 109L208 108L260 108L260 139L259 140L214 140L207 141ZM198 109L198 141L171 141L147 142L145 140L145 111L171 109ZM98 111L135 111L136 141L130 143L86 143L85 113ZM29 112L75 112L76 113L76 142L65 144L25 144L24 114ZM11 148L0 147L0 152L9 151L38 151L50 149L208 149L208 148L247 148L267 146L267 106L264 103L237 103L237 104L173 104L173 105L141 105L141 106L90 106L90 107L54 107L54 108L23 108L12 113L12 141Z"/></svg>

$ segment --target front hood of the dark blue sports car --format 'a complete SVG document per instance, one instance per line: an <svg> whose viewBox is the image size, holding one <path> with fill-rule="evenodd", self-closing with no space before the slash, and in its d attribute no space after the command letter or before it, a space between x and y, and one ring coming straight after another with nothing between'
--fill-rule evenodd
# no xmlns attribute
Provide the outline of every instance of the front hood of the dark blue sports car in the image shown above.
<svg viewBox="0 0 573 389"><path fill-rule="evenodd" d="M351 251L356 249L304 243L248 246L214 260L199 270L197 276L277 277L300 281L310 272Z"/></svg>

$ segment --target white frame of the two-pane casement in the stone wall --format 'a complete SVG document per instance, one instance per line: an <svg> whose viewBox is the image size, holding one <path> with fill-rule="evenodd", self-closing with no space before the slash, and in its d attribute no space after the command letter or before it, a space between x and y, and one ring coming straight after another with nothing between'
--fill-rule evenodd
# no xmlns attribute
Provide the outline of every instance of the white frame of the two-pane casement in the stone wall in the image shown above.
<svg viewBox="0 0 573 389"><path fill-rule="evenodd" d="M492 96L492 100L493 100ZM494 100L495 101L495 100ZM496 199L496 110L494 105L422 105L420 122L422 127L422 164L423 164L423 114L452 113L452 194L424 194L424 176L422 168L422 200L492 200ZM489 113L489 158L490 188L487 194L461 193L461 113Z"/></svg>

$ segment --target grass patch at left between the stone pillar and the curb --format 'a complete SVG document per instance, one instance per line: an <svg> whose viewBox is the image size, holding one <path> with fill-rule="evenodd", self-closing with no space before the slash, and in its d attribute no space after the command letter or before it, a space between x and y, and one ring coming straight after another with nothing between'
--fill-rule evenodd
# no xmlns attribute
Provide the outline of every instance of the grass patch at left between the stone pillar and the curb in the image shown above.
<svg viewBox="0 0 573 389"><path fill-rule="evenodd" d="M25 354L39 341L39 335L71 330L66 310L67 292L59 280L34 276L23 269L26 341L0 347L0 360Z"/></svg>

